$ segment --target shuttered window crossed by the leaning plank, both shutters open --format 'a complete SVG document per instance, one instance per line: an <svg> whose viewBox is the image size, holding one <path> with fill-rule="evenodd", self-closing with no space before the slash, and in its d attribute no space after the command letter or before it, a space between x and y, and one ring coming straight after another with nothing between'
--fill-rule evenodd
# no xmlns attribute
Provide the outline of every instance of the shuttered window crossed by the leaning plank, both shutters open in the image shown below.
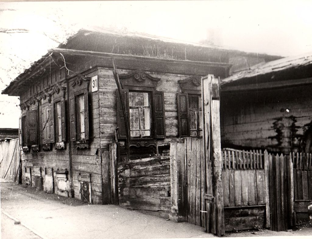
<svg viewBox="0 0 312 239"><path fill-rule="evenodd" d="M164 96L160 91L122 90L131 139L165 137ZM124 113L116 90L118 139L126 139Z"/></svg>

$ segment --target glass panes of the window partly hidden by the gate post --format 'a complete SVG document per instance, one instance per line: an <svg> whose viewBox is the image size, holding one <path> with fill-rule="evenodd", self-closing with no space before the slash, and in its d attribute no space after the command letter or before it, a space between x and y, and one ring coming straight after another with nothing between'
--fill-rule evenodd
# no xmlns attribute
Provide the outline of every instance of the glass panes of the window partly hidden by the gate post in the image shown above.
<svg viewBox="0 0 312 239"><path fill-rule="evenodd" d="M202 136L202 97L188 95L190 136Z"/></svg>

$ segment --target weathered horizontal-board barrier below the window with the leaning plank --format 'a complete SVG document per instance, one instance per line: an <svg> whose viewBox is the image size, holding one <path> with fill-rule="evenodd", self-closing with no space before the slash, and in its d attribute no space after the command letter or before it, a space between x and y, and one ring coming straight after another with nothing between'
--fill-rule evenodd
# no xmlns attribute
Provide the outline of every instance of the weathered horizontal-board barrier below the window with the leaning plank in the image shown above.
<svg viewBox="0 0 312 239"><path fill-rule="evenodd" d="M169 217L170 157L158 156L118 164L119 205Z"/></svg>

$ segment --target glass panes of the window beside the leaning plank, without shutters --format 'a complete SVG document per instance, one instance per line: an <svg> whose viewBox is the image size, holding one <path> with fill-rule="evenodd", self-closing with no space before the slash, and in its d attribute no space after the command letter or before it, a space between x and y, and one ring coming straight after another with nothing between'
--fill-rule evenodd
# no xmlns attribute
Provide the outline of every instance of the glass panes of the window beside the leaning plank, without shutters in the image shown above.
<svg viewBox="0 0 312 239"><path fill-rule="evenodd" d="M151 136L151 109L148 92L129 92L131 137Z"/></svg>

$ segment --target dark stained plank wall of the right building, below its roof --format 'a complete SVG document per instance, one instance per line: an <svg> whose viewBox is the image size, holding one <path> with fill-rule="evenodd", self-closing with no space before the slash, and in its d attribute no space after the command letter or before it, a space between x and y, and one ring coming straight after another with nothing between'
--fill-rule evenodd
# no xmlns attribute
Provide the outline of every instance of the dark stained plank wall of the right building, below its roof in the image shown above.
<svg viewBox="0 0 312 239"><path fill-rule="evenodd" d="M222 147L301 151L311 125L311 85L221 93Z"/></svg>

